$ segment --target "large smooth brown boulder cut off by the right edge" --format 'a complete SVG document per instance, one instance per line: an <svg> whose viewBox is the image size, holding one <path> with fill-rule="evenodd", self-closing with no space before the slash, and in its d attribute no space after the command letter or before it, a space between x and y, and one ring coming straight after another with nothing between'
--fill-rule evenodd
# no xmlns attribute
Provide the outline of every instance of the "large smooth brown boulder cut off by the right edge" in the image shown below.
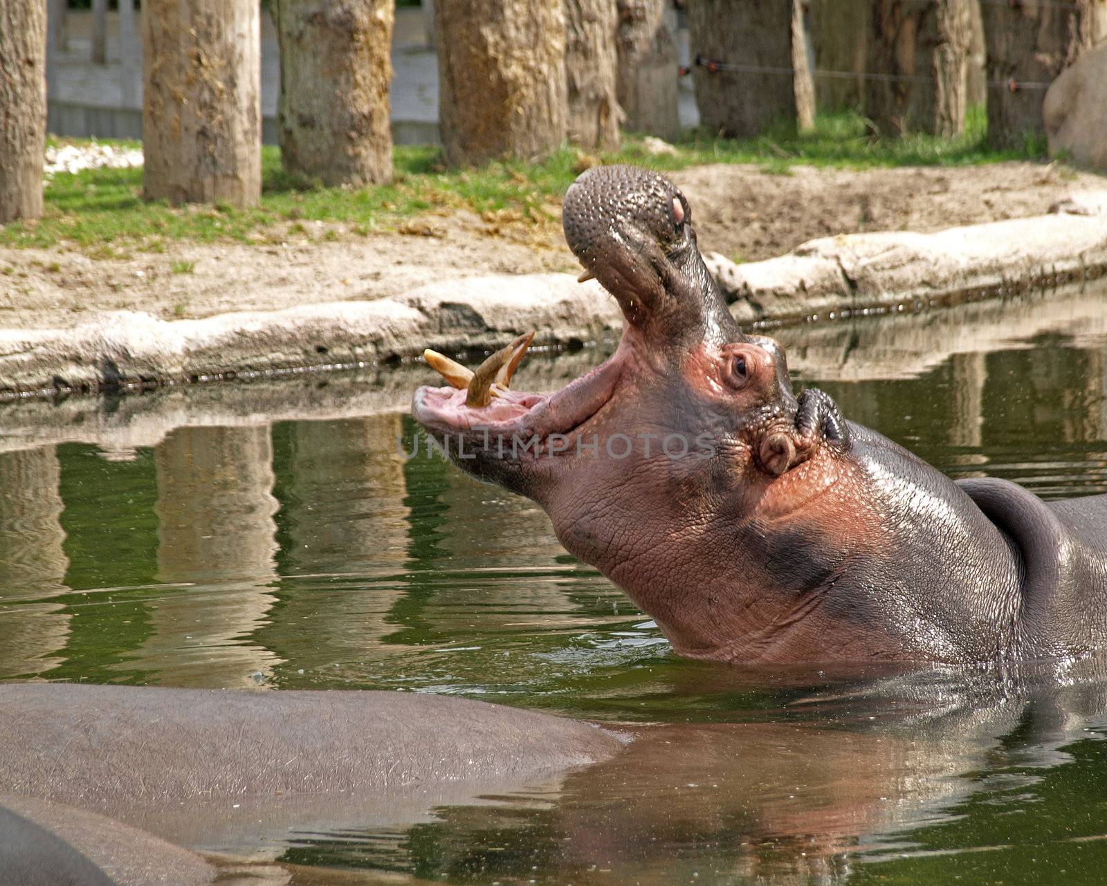
<svg viewBox="0 0 1107 886"><path fill-rule="evenodd" d="M1107 169L1107 45L1085 52L1045 94L1049 155Z"/></svg>

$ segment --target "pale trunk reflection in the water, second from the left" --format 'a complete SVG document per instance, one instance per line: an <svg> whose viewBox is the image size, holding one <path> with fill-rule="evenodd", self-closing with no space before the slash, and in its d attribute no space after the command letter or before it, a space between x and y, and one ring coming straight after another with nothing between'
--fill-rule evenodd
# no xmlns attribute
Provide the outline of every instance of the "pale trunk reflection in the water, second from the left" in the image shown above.
<svg viewBox="0 0 1107 886"><path fill-rule="evenodd" d="M269 428L179 428L157 447L157 575L149 636L127 667L168 686L255 687L279 659L252 643L276 597Z"/></svg>

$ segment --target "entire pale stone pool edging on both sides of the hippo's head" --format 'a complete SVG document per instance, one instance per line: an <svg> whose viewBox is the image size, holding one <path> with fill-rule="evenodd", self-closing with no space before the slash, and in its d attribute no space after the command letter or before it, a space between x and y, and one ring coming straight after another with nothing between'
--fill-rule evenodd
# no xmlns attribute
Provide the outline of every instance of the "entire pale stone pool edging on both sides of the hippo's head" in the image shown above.
<svg viewBox="0 0 1107 886"><path fill-rule="evenodd" d="M813 240L778 259L708 267L739 322L830 320L1052 290L1107 272L1107 201L1070 212L951 228ZM1065 208L1065 205L1062 205ZM121 311L69 330L0 330L0 399L267 377L500 347L594 342L622 317L596 282L571 274L449 280L372 302L333 302L166 322Z"/></svg>

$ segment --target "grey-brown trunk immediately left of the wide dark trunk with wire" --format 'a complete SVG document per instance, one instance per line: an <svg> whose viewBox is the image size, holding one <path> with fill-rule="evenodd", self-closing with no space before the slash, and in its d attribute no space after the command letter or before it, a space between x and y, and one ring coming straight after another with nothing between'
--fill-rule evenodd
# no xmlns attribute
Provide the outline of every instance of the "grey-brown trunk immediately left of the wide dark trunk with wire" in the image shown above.
<svg viewBox="0 0 1107 886"><path fill-rule="evenodd" d="M665 0L617 0L615 7L615 79L623 126L635 133L675 138L681 129L679 72Z"/></svg>

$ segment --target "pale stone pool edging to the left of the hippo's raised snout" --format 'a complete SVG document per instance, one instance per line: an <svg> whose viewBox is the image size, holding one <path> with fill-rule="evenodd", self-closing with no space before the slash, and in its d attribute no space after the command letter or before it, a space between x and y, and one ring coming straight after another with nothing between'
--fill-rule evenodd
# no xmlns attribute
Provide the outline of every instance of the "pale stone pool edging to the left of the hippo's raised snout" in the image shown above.
<svg viewBox="0 0 1107 886"><path fill-rule="evenodd" d="M0 330L0 395L154 387L292 367L351 367L421 354L596 341L621 323L614 299L571 274L484 277L400 299L162 321L107 312L70 330Z"/></svg>

